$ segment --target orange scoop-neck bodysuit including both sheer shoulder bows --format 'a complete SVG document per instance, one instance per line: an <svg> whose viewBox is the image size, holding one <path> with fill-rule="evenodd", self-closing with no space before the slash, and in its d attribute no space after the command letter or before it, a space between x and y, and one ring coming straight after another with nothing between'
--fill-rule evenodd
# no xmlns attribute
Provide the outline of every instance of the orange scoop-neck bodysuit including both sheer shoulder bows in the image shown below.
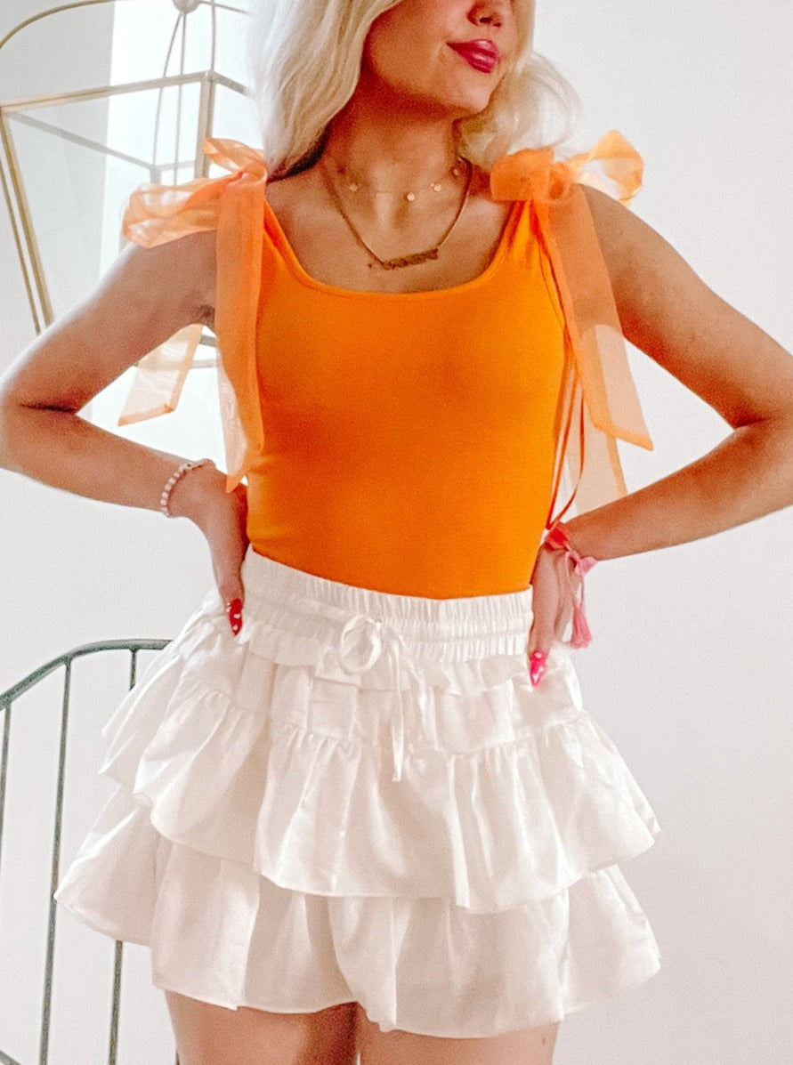
<svg viewBox="0 0 793 1065"><path fill-rule="evenodd" d="M151 247L217 231L227 489L247 476L255 551L405 595L518 591L551 510L625 494L616 441L652 445L580 187L630 201L642 162L619 133L566 161L499 160L491 192L512 208L490 264L408 294L311 278L268 204L261 152L213 138L205 152L231 173L141 186L124 232ZM175 408L200 333L141 360L119 424Z"/></svg>

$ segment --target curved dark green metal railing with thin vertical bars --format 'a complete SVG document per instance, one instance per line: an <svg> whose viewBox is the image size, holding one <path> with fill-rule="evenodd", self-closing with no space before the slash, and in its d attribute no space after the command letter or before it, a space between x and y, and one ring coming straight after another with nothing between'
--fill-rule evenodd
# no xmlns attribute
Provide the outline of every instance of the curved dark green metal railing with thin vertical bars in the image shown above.
<svg viewBox="0 0 793 1065"><path fill-rule="evenodd" d="M3 847L3 821L5 815L5 792L6 792L6 782L9 772L9 758L11 750L11 723L14 717L15 703L22 695L27 694L31 689L41 684L45 677L50 674L55 673L58 670L63 670L63 686L61 689L61 728L60 728L60 744L59 744L59 759L58 759L58 782L55 789L55 812L54 812L54 831L52 835L52 858L50 865L50 888L49 888L49 921L47 928L47 945L46 945L46 961L44 967L44 988L43 988L43 1009L42 1009L42 1026L41 1026L41 1037L39 1037L39 1050L38 1050L38 1065L47 1065L48 1056L50 1052L50 1019L51 1019L51 1003L52 1003L52 982L53 982L53 962L55 952L55 917L56 917L56 903L52 898L52 895L58 886L60 878L60 855L61 855L61 828L63 818L63 797L64 797L64 786L65 786L65 763L66 763L66 752L67 752L67 740L68 740L68 723L69 723L69 701L72 690L72 663L78 658L85 658L87 656L100 655L106 652L127 652L130 656L129 660L129 672L128 672L128 683L131 688L135 684L139 665L139 655L142 652L152 652L161 651L166 644L167 640L119 640L119 641L109 641L102 643L92 643L82 648L77 648L74 651L69 651L59 658L54 658L52 661L47 662L39 669L35 670L29 676L25 677L14 687L10 688L7 691L0 693L0 715L3 719L2 728L2 754L0 755L0 892L2 890L3 884L3 872L6 870L3 868L2 864L2 847ZM19 707L17 712L23 712L23 707ZM0 894L0 900L2 896ZM110 1017L110 1033L109 1033L109 1050L108 1050L108 1065L116 1065L117 1054L118 1054L118 1021L120 1012L120 993L122 993L122 967L123 967L123 949L124 944L116 940L115 944L115 955L114 955L114 966L113 966L113 992L112 992L112 1011ZM3 967L4 968L4 967ZM6 970L3 976L7 979L11 973ZM5 981L3 980L3 983ZM0 1043L3 1043L2 1033L0 1033ZM0 1065L30 1065L30 1063L18 1062L15 1058L12 1058L6 1051L0 1046ZM88 1063L81 1061L81 1065L94 1065L94 1063ZM99 1065L97 1062L96 1065ZM179 1058L176 1058L176 1065L179 1065Z"/></svg>

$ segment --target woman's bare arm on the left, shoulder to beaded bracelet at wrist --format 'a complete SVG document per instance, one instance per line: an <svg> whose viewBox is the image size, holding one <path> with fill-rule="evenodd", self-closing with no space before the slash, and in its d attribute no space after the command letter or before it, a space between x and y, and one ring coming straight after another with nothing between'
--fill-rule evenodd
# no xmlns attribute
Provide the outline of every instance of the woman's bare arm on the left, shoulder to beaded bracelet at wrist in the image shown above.
<svg viewBox="0 0 793 1065"><path fill-rule="evenodd" d="M94 499L159 507L182 458L107 432L78 411L182 326L210 321L214 244L209 232L127 246L91 296L35 339L0 378L0 464ZM174 510L188 512L198 481L212 478L222 475L205 468L180 482Z"/></svg>

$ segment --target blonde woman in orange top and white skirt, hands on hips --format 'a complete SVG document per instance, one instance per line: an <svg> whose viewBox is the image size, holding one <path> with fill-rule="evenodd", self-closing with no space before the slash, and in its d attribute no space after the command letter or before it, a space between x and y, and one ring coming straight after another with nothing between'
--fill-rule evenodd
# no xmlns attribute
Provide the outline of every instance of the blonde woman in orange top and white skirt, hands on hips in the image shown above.
<svg viewBox="0 0 793 1065"><path fill-rule="evenodd" d="M5 466L211 552L56 892L149 945L181 1065L547 1065L565 1015L658 971L619 863L659 825L581 705L583 580L793 501L793 364L626 210L624 138L537 140L565 87L532 23L262 9L263 153L210 141L227 176L139 190L130 246L2 380ZM168 338L187 370L195 324L225 473L78 413ZM632 494L622 333L732 428Z"/></svg>

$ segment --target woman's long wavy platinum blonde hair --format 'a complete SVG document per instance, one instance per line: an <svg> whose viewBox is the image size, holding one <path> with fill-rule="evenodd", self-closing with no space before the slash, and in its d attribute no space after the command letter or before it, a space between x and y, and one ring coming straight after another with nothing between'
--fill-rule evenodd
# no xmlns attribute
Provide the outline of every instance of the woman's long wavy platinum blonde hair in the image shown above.
<svg viewBox="0 0 793 1065"><path fill-rule="evenodd" d="M400 2L256 0L247 61L272 176L317 159L328 125L355 93L372 23ZM516 14L515 62L487 110L456 125L460 154L486 170L508 151L561 143L578 108L570 83L533 49L534 0L516 0ZM559 118L554 136L549 126Z"/></svg>

